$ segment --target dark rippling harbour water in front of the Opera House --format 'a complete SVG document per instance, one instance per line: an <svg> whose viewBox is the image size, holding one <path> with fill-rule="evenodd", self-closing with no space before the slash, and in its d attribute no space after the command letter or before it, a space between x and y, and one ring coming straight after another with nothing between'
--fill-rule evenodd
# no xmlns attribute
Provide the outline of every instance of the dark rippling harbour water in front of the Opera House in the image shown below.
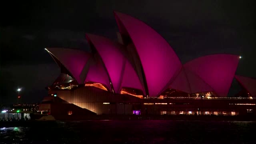
<svg viewBox="0 0 256 144"><path fill-rule="evenodd" d="M0 128L0 144L256 144L256 122L92 120Z"/></svg>

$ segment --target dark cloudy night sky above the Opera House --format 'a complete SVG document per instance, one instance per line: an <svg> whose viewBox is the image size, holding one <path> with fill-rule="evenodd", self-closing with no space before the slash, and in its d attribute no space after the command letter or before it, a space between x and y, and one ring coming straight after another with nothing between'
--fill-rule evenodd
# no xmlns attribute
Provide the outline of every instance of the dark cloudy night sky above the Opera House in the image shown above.
<svg viewBox="0 0 256 144"><path fill-rule="evenodd" d="M116 40L113 11L161 34L182 63L208 54L242 55L237 74L256 77L255 0L84 0L1 5L0 104L40 102L60 74L46 47L88 50L85 33Z"/></svg>

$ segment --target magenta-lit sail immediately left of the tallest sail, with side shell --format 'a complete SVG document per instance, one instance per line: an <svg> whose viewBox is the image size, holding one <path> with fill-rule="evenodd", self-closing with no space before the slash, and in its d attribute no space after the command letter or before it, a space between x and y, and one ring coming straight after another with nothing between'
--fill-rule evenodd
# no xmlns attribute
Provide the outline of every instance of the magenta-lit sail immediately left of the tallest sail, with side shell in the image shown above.
<svg viewBox="0 0 256 144"><path fill-rule="evenodd" d="M142 84L138 81L138 75L120 51L121 44L94 34L86 34L86 38L100 54L116 93L120 93L122 87L144 91Z"/></svg>

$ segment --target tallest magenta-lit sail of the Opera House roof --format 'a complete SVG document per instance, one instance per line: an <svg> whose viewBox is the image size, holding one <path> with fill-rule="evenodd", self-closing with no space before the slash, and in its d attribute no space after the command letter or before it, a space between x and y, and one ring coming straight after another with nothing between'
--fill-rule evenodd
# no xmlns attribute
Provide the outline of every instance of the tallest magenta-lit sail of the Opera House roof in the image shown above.
<svg viewBox="0 0 256 144"><path fill-rule="evenodd" d="M158 96L181 69L178 56L168 42L144 22L120 12L114 15L124 43L130 40L138 52L149 96Z"/></svg>

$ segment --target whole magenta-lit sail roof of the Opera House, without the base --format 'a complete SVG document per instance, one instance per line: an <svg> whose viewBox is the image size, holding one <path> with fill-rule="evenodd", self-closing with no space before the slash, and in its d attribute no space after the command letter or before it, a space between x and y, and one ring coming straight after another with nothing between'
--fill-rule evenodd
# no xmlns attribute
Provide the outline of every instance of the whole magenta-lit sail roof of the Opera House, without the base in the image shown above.
<svg viewBox="0 0 256 144"><path fill-rule="evenodd" d="M114 17L118 42L86 34L91 52L46 48L78 84L99 83L113 93L132 88L149 97L160 96L166 89L187 94L214 92L226 97L235 77L256 96L250 86L255 79L235 76L239 56L213 54L182 64L169 43L150 26L120 12L114 12Z"/></svg>

